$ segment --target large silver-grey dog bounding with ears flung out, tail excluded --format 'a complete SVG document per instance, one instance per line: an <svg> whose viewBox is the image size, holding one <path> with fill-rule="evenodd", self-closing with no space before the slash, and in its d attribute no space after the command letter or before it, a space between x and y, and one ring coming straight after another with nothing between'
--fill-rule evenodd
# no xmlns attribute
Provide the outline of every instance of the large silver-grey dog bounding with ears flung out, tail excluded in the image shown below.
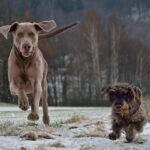
<svg viewBox="0 0 150 150"><path fill-rule="evenodd" d="M49 32L56 27L53 20L40 23L18 23L0 27L0 33L7 38L12 33L13 45L8 58L8 80L12 95L18 96L22 110L29 108L27 94L32 93L29 120L39 119L39 102L42 98L43 122L49 124L47 103L48 65L38 48L38 35L41 31Z"/></svg>

